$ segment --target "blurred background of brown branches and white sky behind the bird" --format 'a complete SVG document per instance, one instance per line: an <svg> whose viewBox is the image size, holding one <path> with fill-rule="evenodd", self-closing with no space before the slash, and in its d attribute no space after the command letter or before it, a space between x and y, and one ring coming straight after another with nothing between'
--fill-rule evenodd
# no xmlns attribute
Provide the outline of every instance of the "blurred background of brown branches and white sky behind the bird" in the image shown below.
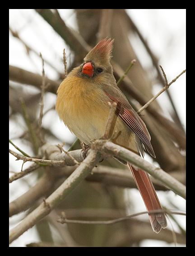
<svg viewBox="0 0 195 256"><path fill-rule="evenodd" d="M112 65L116 80L136 59L120 88L138 110L168 82L186 68L186 10L185 9L9 9L9 139L30 156L44 143L66 142L75 136L59 121L55 111L56 90L64 79L63 49L68 72L82 63L84 56L105 37L114 38ZM42 59L48 86L44 95L44 116L41 136L37 129L40 113ZM24 102L23 104L21 102ZM28 121L34 131L29 132ZM164 117L166 120L164 120ZM157 158L147 154L145 159L163 168L180 182L186 182L186 74L181 75L168 91L144 111L143 117ZM79 144L75 146L79 148ZM11 144L10 149L17 151ZM10 176L25 170L32 163L15 161L10 155ZM121 164L107 160L101 168L120 168ZM51 171L51 170L50 170ZM59 170L52 170L58 172ZM48 170L39 168L32 174L10 184L10 201L21 198L33 188ZM10 228L17 225L29 211L37 207L59 186L65 177L58 177L51 190L10 217ZM155 183L162 205L168 209L185 210L185 200ZM186 219L174 215L168 228L153 233L147 215L113 226L56 223L60 212L72 219L111 219L144 211L144 203L136 186L111 185L105 177L84 181L60 207L38 225L15 240L11 247L26 247L32 242L74 247L172 247L176 232L177 246L185 246Z"/></svg>

